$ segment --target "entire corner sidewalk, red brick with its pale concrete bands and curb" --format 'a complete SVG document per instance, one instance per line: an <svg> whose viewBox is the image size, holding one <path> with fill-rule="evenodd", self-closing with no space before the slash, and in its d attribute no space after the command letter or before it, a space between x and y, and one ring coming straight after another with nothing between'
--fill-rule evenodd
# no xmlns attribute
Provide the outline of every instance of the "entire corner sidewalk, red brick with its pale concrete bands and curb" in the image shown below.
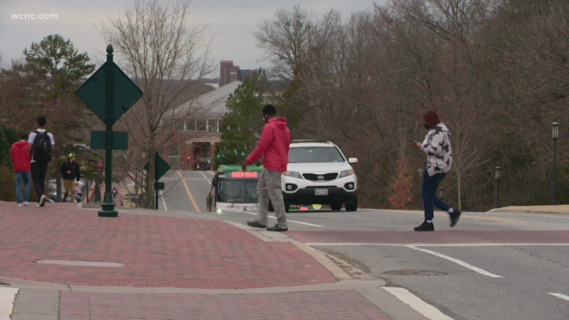
<svg viewBox="0 0 569 320"><path fill-rule="evenodd" d="M12 320L426 319L283 233L61 203L0 202L0 223Z"/></svg>

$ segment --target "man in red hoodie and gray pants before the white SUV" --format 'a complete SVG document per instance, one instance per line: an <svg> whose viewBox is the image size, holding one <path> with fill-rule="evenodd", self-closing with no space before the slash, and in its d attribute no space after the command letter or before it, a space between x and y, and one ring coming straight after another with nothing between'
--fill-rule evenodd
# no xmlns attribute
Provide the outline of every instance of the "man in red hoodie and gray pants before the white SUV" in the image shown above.
<svg viewBox="0 0 569 320"><path fill-rule="evenodd" d="M277 216L277 224L267 228L267 231L287 231L281 178L288 165L290 130L286 125L286 118L277 117L274 105L267 104L263 107L263 119L266 125L263 127L261 139L243 164L243 170L247 170L247 165L263 157L263 167L265 167L257 184L260 218L247 224L251 227L266 228L270 199Z"/></svg>

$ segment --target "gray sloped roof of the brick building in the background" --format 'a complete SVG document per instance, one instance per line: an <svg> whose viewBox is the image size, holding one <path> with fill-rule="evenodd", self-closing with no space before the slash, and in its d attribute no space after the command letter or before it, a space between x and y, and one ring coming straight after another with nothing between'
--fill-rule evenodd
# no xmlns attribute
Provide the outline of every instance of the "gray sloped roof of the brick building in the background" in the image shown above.
<svg viewBox="0 0 569 320"><path fill-rule="evenodd" d="M183 113L191 106L193 109L207 110L207 116L224 116L224 114L227 112L225 102L229 98L229 95L232 94L235 89L237 89L237 87L239 87L241 84L241 81L233 81L224 85L223 87L220 87L208 93L204 93L193 101L186 101L183 104L179 105L176 109L178 109L180 113Z"/></svg>

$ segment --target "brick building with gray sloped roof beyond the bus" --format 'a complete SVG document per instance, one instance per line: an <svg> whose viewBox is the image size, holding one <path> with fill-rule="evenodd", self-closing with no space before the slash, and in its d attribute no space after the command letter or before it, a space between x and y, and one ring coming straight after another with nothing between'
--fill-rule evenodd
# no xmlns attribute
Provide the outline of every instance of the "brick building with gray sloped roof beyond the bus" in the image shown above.
<svg viewBox="0 0 569 320"><path fill-rule="evenodd" d="M162 154L162 158L168 159L173 170L204 170L204 166L205 170L211 169L215 144L221 141L221 121L227 112L225 103L240 84L241 81L232 81L178 107L204 112L203 116L186 121L184 129L180 130L177 137L181 142Z"/></svg>

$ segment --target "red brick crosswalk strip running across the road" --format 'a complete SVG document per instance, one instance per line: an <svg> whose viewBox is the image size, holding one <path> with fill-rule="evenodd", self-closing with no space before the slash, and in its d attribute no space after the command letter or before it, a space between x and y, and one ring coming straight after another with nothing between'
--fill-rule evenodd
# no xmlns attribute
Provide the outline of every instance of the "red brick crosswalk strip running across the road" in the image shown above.
<svg viewBox="0 0 569 320"><path fill-rule="evenodd" d="M303 242L365 243L567 243L569 230L524 231L288 231Z"/></svg>

